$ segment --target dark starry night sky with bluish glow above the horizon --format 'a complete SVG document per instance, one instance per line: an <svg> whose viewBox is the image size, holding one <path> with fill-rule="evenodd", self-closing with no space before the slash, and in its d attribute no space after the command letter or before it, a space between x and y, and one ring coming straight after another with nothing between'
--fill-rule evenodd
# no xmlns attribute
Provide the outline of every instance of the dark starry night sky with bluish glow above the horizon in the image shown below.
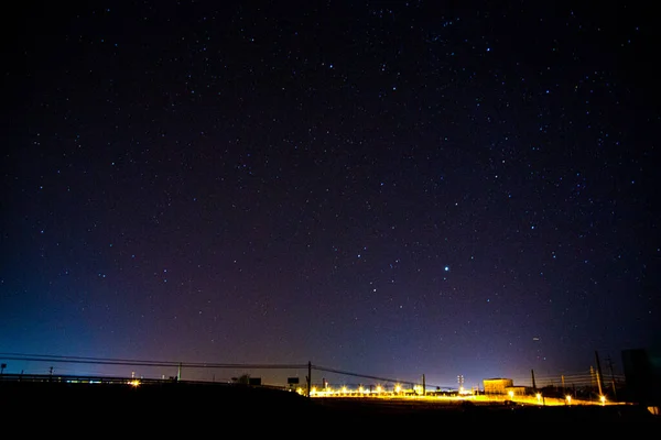
<svg viewBox="0 0 661 440"><path fill-rule="evenodd" d="M0 352L453 385L661 342L642 6L62 3L3 18Z"/></svg>

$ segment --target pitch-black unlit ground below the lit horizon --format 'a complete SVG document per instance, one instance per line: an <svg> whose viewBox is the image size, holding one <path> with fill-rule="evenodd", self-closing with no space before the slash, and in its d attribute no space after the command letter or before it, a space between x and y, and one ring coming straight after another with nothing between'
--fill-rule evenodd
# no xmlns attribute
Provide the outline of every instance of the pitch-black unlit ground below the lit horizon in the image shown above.
<svg viewBox="0 0 661 440"><path fill-rule="evenodd" d="M293 429L401 426L424 432L481 422L660 424L647 408L534 407L378 399L307 399L295 393L238 385L0 383L2 428L57 431L130 430L181 433L207 429ZM394 425L393 425L394 424ZM232 428L234 429L234 428ZM333 428L335 429L335 428ZM370 428L371 429L371 428Z"/></svg>

